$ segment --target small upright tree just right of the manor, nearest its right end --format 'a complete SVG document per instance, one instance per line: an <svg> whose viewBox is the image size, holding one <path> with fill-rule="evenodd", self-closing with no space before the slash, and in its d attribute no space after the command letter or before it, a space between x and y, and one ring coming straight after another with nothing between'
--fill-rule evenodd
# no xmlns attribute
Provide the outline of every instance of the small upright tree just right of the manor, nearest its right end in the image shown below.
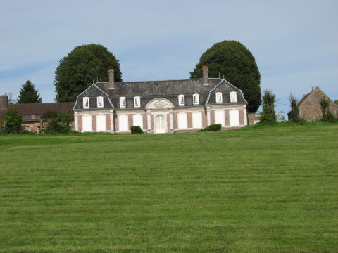
<svg viewBox="0 0 338 253"><path fill-rule="evenodd" d="M275 112L276 95L271 90L265 90L263 91L262 100L263 110L261 112L261 117L259 118L258 124L277 124Z"/></svg>

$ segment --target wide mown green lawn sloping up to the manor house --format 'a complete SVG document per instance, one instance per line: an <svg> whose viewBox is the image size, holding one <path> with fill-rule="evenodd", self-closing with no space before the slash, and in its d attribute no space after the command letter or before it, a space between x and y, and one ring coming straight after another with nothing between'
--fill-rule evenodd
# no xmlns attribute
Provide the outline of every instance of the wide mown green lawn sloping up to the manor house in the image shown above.
<svg viewBox="0 0 338 253"><path fill-rule="evenodd" d="M338 252L338 124L0 136L0 252Z"/></svg>

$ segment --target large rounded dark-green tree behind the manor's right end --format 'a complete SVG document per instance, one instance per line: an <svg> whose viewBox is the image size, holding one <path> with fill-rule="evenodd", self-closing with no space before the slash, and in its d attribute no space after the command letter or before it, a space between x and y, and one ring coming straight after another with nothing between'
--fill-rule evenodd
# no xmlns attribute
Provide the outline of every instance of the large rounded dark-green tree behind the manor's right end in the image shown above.
<svg viewBox="0 0 338 253"><path fill-rule="evenodd" d="M256 112L261 105L261 74L251 52L237 41L223 41L205 51L190 72L190 78L201 78L202 67L208 66L209 77L225 79L241 89L248 101L248 111Z"/></svg>

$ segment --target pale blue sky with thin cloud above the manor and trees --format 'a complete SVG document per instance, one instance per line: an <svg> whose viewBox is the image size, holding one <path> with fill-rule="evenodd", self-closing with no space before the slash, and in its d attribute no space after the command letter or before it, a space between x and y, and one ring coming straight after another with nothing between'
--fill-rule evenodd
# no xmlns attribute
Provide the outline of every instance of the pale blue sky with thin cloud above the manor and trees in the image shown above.
<svg viewBox="0 0 338 253"><path fill-rule="evenodd" d="M120 61L123 81L189 79L224 40L251 51L276 112L315 86L338 99L337 0L0 0L0 94L17 99L30 80L55 102L59 61L92 43Z"/></svg>

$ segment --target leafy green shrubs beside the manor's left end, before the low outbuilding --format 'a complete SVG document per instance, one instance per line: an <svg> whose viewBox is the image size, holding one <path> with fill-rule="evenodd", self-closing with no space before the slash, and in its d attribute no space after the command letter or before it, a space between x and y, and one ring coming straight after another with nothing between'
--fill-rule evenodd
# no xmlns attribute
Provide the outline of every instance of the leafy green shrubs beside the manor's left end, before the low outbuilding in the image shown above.
<svg viewBox="0 0 338 253"><path fill-rule="evenodd" d="M57 112L49 110L42 115L41 133L46 134L66 134L72 131L73 122L72 112Z"/></svg>

